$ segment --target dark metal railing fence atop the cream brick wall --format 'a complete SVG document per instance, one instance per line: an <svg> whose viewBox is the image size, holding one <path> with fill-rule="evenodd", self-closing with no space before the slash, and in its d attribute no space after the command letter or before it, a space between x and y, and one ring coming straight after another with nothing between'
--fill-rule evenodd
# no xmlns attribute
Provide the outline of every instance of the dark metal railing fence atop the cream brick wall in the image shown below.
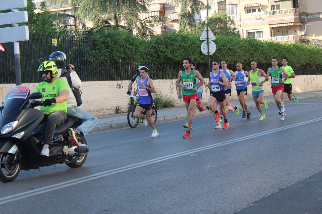
<svg viewBox="0 0 322 214"><path fill-rule="evenodd" d="M138 65L145 65L149 68L149 76L152 79L176 79L178 71L181 70L181 63L157 64L152 62L142 63L111 63L101 61L93 63L85 54L88 50L95 49L95 44L86 36L64 35L30 32L29 41L20 42L21 76L22 82L40 82L41 78L36 73L39 65L48 60L49 55L54 51L62 51L67 55L67 64L73 64L82 81L112 81L130 80L138 73ZM53 45L52 39L57 39L57 45ZM5 52L0 51L0 82L15 83L14 51L13 43L2 44ZM258 64L258 68L265 72L270 64ZM229 69L235 71L236 67L229 64ZM208 65L197 64L196 69L203 77L209 77ZM250 70L250 65L244 65L244 70ZM303 65L295 69L296 75L322 74L321 67L312 68Z"/></svg>

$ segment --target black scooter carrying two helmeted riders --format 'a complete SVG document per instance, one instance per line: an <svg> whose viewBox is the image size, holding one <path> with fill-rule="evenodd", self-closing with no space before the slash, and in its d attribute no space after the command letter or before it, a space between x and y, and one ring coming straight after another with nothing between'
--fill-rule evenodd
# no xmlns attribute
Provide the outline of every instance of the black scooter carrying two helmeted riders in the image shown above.
<svg viewBox="0 0 322 214"><path fill-rule="evenodd" d="M0 181L13 181L20 170L63 164L71 168L81 167L87 158L89 148L84 137L79 136L79 146L73 146L68 129L78 127L82 120L68 116L67 120L56 126L50 146L49 157L40 156L44 138L44 114L35 109L41 101L29 99L42 98L41 93L29 91L25 98L12 98L10 92L0 109Z"/></svg>

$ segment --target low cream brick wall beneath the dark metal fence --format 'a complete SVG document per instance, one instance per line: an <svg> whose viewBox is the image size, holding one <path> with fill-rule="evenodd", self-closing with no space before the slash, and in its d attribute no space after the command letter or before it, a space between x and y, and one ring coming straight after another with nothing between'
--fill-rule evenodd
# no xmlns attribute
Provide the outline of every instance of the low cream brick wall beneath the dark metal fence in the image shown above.
<svg viewBox="0 0 322 214"><path fill-rule="evenodd" d="M206 79L208 81L208 79ZM183 106L181 89L175 86L176 80L154 80L153 83L156 89L162 94L171 97L175 101L175 106ZM81 108L90 112L95 116L109 115L115 113L115 107L122 107L122 111L128 110L130 98L126 94L128 90L129 81L95 81L95 82L82 82L82 100ZM23 85L30 85L31 91L35 89L38 83L29 83ZM0 100L5 98L7 93L15 84L1 84L0 85ZM322 90L322 75L306 75L296 76L292 78L293 93L301 93L308 91ZM132 88L136 89L136 83ZM270 81L264 84L265 96L271 96ZM209 89L202 87L203 102L207 102L209 97ZM251 97L251 86L248 86L248 95ZM232 86L231 99L236 99L235 82Z"/></svg>

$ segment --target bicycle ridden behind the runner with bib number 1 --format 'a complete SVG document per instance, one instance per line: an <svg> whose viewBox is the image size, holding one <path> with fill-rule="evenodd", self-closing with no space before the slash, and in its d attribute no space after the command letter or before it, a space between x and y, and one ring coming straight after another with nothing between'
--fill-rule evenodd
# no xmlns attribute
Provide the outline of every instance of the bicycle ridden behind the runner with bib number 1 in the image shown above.
<svg viewBox="0 0 322 214"><path fill-rule="evenodd" d="M139 103L138 94L137 94L137 96L133 96L133 92L132 92L131 95L130 95L130 97L134 98L134 102L133 102L133 105L131 105L128 108L128 125L131 128L135 128L135 127L137 127L137 124L139 122L140 123L143 123L144 122L144 119L142 119L141 121L139 121L140 119L139 118L136 118L134 116L135 108L137 107L137 104ZM143 114L144 115L147 114L147 111L145 109L143 110ZM158 114L157 114L157 110L156 110L156 105L154 105L154 103L153 103L152 113L151 113L151 119L153 120L154 124L156 124L157 115Z"/></svg>

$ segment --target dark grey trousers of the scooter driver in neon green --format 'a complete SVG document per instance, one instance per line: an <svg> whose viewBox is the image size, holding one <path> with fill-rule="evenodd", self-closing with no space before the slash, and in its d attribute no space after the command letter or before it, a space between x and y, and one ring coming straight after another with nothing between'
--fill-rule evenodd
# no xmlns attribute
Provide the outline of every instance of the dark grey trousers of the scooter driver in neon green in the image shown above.
<svg viewBox="0 0 322 214"><path fill-rule="evenodd" d="M45 137L43 144L52 145L52 138L56 129L56 125L63 124L67 119L67 114L64 111L53 111L49 115L45 115L43 122L46 121Z"/></svg>

